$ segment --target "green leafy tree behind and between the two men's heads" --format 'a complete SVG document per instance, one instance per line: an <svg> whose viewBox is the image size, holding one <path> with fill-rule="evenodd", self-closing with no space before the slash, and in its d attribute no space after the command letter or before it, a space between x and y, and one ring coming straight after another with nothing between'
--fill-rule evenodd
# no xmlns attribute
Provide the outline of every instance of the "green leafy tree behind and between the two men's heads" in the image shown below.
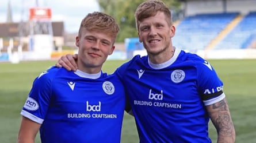
<svg viewBox="0 0 256 143"><path fill-rule="evenodd" d="M125 38L137 37L135 25L135 10L143 0L97 0L101 11L112 15L120 25L117 42L124 42ZM178 10L181 3L175 0L163 0L172 10Z"/></svg>

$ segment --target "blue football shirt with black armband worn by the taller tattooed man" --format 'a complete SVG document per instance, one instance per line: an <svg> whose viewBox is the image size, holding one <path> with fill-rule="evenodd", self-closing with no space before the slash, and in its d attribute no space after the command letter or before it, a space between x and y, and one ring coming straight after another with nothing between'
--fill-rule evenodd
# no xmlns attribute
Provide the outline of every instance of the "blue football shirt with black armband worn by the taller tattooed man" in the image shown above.
<svg viewBox="0 0 256 143"><path fill-rule="evenodd" d="M225 94L209 62L176 48L165 63L136 55L115 74L127 90L140 142L211 142L205 106Z"/></svg>

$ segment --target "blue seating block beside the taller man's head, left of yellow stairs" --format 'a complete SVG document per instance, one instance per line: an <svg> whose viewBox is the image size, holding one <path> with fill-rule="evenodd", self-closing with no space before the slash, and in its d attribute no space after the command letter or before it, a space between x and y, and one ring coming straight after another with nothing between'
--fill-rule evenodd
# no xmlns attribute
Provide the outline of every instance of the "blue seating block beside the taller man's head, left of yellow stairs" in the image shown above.
<svg viewBox="0 0 256 143"><path fill-rule="evenodd" d="M176 26L173 44L192 52L202 50L238 15L238 12L232 12L186 17Z"/></svg>

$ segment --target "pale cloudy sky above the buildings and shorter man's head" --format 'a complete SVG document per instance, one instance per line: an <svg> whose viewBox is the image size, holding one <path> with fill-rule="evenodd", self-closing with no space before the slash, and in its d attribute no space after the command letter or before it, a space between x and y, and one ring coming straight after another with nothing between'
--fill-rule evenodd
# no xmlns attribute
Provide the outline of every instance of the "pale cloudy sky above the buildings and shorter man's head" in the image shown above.
<svg viewBox="0 0 256 143"><path fill-rule="evenodd" d="M68 33L77 33L82 19L88 13L100 10L96 0L0 0L0 22L6 22L9 1L13 22L27 21L29 8L38 4L39 7L50 8L51 21L63 21Z"/></svg>

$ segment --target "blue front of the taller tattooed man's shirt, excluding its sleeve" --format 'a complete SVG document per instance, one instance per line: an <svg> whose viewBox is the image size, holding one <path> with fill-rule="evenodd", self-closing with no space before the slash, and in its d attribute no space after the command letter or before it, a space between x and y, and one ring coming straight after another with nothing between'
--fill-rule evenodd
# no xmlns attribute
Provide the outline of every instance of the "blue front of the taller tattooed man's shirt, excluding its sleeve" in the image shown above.
<svg viewBox="0 0 256 143"><path fill-rule="evenodd" d="M163 69L152 69L143 59L129 64L122 79L141 142L211 142L193 63Z"/></svg>

